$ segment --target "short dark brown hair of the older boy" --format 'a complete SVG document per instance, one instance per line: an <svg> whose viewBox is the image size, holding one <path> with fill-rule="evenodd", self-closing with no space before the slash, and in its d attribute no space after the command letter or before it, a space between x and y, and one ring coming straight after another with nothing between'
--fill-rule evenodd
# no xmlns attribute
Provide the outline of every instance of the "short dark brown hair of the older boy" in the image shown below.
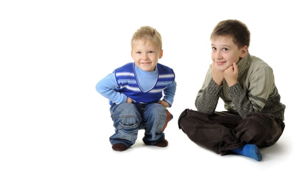
<svg viewBox="0 0 307 178"><path fill-rule="evenodd" d="M250 32L247 26L239 20L220 21L213 29L210 40L219 37L230 36L233 42L239 47L249 46Z"/></svg>

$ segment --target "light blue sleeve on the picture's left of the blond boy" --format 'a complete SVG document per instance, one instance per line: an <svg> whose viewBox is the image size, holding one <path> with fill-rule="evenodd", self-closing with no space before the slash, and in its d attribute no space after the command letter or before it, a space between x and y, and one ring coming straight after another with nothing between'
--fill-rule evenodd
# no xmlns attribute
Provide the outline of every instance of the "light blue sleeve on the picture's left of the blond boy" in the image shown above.
<svg viewBox="0 0 307 178"><path fill-rule="evenodd" d="M109 99L109 101L120 104L127 101L127 96L117 92L114 73L108 74L96 84L96 90L99 94Z"/></svg>

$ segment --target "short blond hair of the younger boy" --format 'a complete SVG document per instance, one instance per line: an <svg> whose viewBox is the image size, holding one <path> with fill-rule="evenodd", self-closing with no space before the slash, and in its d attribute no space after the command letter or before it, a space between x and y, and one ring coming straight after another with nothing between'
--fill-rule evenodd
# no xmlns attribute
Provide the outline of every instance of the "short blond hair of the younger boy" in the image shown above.
<svg viewBox="0 0 307 178"><path fill-rule="evenodd" d="M162 38L160 33L151 26L142 26L137 29L131 38L131 49L133 49L133 44L137 40L144 40L146 42L152 42L157 46L159 50L162 49Z"/></svg>

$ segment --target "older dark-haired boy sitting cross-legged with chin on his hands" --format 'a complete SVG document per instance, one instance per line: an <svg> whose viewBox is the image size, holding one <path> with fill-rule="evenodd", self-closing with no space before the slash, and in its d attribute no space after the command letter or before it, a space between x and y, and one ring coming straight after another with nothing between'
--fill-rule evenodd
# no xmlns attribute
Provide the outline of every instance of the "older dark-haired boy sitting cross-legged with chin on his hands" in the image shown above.
<svg viewBox="0 0 307 178"><path fill-rule="evenodd" d="M285 105L272 69L248 53L250 33L238 20L219 22L210 37L212 65L195 106L179 116L179 128L196 144L220 155L262 160L259 147L282 135ZM216 112L219 97L227 111Z"/></svg>

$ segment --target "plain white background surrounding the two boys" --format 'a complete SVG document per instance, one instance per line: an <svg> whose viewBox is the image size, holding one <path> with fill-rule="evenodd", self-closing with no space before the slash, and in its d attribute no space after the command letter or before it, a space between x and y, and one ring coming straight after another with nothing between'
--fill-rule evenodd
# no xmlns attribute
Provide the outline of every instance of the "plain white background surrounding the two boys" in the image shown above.
<svg viewBox="0 0 307 178"><path fill-rule="evenodd" d="M303 1L1 1L0 177L303 177L306 175ZM210 34L238 19L249 52L274 71L287 106L285 132L263 160L220 156L178 129L211 64ZM107 99L96 83L132 62L130 39L143 25L162 35L160 63L176 73L165 130L169 146L111 149ZM218 108L222 110L222 103Z"/></svg>

